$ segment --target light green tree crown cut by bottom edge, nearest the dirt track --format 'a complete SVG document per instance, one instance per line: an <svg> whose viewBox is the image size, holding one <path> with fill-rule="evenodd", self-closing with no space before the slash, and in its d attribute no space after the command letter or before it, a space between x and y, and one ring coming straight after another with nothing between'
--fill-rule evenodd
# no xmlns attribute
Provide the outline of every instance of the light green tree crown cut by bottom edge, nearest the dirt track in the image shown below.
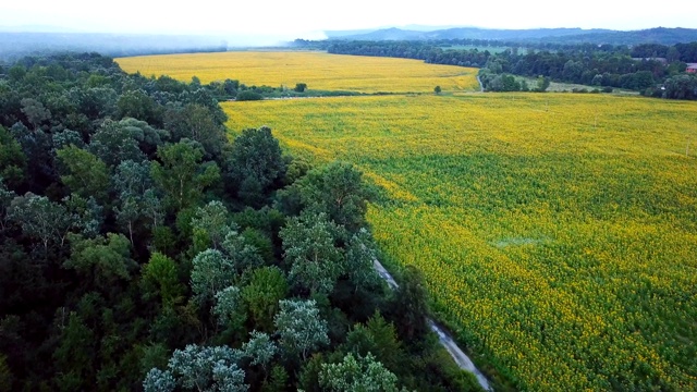
<svg viewBox="0 0 697 392"><path fill-rule="evenodd" d="M320 385L335 392L398 392L396 381L369 353L358 359L348 353L339 364L322 364L319 372Z"/></svg>

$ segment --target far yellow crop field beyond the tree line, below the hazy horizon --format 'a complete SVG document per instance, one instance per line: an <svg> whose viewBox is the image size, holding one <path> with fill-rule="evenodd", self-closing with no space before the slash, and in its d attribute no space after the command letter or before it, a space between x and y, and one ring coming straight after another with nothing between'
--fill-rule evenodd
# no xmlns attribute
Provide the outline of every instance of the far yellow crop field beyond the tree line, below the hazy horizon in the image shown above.
<svg viewBox="0 0 697 392"><path fill-rule="evenodd" d="M432 93L477 90L477 70L432 65L419 60L328 54L323 52L222 52L145 56L115 59L126 72L169 75L201 83L239 79L247 86L295 86L360 93Z"/></svg>

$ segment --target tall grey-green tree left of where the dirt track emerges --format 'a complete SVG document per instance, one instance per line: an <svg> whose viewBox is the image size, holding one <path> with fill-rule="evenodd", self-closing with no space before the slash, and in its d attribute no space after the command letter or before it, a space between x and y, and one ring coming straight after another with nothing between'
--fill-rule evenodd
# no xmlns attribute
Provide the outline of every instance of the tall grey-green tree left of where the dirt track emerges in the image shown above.
<svg viewBox="0 0 697 392"><path fill-rule="evenodd" d="M292 218L279 233L283 258L290 266L290 282L310 293L329 294L344 271L344 257L338 247L340 229L325 213L304 213Z"/></svg>

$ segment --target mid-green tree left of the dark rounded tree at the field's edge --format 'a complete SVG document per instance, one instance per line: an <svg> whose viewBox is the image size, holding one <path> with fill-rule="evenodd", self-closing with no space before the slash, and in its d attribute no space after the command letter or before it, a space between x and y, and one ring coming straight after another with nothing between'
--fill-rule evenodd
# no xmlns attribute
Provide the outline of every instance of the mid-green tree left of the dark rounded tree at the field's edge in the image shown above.
<svg viewBox="0 0 697 392"><path fill-rule="evenodd" d="M216 163L201 163L204 152L195 142L184 139L159 147L157 155L162 163L152 161L150 174L166 195L166 204L175 211L198 203L203 191L220 179Z"/></svg>

